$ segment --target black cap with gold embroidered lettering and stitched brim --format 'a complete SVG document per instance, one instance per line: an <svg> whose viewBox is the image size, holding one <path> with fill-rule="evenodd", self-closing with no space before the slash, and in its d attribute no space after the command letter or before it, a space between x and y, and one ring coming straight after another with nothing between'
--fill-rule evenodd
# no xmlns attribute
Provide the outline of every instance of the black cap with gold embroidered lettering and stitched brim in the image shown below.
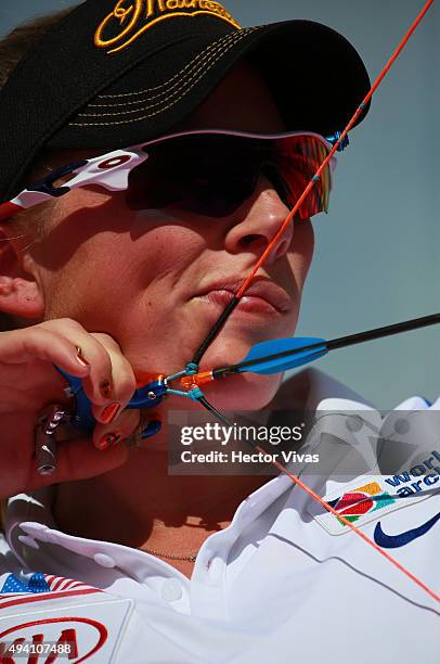
<svg viewBox="0 0 440 664"><path fill-rule="evenodd" d="M42 148L106 151L170 132L243 56L289 130L341 130L370 89L354 48L319 23L241 28L211 0L87 0L0 92L0 201Z"/></svg>

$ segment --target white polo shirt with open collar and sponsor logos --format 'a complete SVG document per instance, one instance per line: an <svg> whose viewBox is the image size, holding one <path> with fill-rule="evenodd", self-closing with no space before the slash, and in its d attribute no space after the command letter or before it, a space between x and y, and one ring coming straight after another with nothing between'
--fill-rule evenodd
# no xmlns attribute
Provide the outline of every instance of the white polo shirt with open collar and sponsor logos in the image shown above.
<svg viewBox="0 0 440 664"><path fill-rule="evenodd" d="M415 397L401 408L428 406ZM370 442L384 427L374 409L326 399L306 449L334 445L335 468L315 476L305 465L301 477L438 593L439 444L423 476L402 468L399 475L348 477L348 456L359 449L347 429L342 439L338 409L362 411ZM9 501L0 643L39 643L57 648L56 661L100 664L439 662L436 600L285 475L251 494L231 525L207 538L191 580L144 551L62 533L51 495L48 488ZM361 496L358 513L353 496L354 503ZM74 649L69 660L64 646ZM46 661L55 659L38 663Z"/></svg>

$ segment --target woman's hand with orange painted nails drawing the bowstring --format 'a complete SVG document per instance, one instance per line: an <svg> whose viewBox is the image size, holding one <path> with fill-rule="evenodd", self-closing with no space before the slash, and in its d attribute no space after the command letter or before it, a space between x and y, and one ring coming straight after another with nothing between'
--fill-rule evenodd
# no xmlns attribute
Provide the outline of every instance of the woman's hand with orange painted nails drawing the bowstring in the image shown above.
<svg viewBox="0 0 440 664"><path fill-rule="evenodd" d="M59 443L55 472L39 475L34 452L41 411L55 403L73 409L73 399L64 394L67 382L53 365L82 380L98 423L92 435L79 432L77 438ZM115 340L90 333L75 320L63 318L0 332L0 498L92 477L122 464L128 450L120 442L138 427L140 412L121 410L135 386L132 368ZM108 421L108 411L117 409L108 408L113 404L120 408ZM100 442L111 433L120 436L116 445L100 450Z"/></svg>

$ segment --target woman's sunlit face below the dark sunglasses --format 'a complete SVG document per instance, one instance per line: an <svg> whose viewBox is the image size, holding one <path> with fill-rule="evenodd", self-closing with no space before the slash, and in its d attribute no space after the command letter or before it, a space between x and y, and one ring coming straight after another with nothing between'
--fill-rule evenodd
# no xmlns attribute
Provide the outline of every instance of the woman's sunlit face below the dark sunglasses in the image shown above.
<svg viewBox="0 0 440 664"><path fill-rule="evenodd" d="M178 129L197 128L275 133L284 125L263 80L242 64ZM263 176L224 218L131 210L124 192L77 189L57 202L53 230L33 253L43 318L69 317L111 334L137 375L180 370L287 214ZM290 225L259 272L260 296L244 297L202 369L238 361L255 343L294 333L312 253L310 220ZM222 408L260 408L280 380L247 374L205 392Z"/></svg>

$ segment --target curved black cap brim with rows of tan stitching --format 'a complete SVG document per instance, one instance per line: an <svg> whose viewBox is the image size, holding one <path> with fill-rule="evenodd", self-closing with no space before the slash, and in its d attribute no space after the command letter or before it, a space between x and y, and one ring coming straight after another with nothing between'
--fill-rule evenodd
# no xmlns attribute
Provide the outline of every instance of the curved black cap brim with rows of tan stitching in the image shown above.
<svg viewBox="0 0 440 664"><path fill-rule="evenodd" d="M287 130L327 136L344 129L371 85L350 42L319 23L229 28L220 37L218 30L192 34L150 52L69 118L47 145L124 148L165 135L243 58L250 58L263 75ZM358 124L367 111L368 105Z"/></svg>

